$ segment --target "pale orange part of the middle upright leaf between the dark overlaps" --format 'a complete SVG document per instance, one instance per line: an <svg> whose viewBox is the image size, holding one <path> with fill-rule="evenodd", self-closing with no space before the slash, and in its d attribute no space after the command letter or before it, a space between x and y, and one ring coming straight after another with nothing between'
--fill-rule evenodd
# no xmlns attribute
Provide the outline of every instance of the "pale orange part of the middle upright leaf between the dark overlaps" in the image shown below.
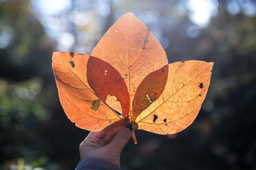
<svg viewBox="0 0 256 170"><path fill-rule="evenodd" d="M129 91L130 110L140 82L152 71L168 64L158 40L131 12L109 28L91 55L111 64L123 77ZM135 117L131 117L134 121Z"/></svg>

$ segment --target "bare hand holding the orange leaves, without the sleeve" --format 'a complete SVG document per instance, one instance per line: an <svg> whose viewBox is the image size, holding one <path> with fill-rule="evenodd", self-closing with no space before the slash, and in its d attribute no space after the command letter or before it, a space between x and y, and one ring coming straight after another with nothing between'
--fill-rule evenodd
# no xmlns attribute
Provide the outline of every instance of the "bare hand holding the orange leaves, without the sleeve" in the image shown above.
<svg viewBox="0 0 256 170"><path fill-rule="evenodd" d="M136 129L137 123L127 123L108 131L90 132L79 146L81 160L92 157L104 158L120 167L121 151Z"/></svg>

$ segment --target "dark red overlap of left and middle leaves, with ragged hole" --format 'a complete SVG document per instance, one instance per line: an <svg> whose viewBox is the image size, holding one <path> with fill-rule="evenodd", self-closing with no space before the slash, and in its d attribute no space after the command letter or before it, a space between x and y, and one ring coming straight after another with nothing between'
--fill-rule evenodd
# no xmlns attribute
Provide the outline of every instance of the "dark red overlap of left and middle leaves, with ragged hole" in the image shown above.
<svg viewBox="0 0 256 170"><path fill-rule="evenodd" d="M129 93L127 86L113 66L99 58L90 56L87 63L87 80L101 101L128 117Z"/></svg>

